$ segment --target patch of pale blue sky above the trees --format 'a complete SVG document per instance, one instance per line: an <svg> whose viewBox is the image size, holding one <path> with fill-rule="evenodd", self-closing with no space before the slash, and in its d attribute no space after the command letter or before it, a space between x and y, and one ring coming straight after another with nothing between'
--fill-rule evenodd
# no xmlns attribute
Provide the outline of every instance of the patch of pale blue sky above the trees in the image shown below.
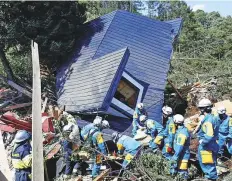
<svg viewBox="0 0 232 181"><path fill-rule="evenodd" d="M198 9L205 12L218 11L222 16L232 16L232 0L185 0L185 2L193 11Z"/></svg>

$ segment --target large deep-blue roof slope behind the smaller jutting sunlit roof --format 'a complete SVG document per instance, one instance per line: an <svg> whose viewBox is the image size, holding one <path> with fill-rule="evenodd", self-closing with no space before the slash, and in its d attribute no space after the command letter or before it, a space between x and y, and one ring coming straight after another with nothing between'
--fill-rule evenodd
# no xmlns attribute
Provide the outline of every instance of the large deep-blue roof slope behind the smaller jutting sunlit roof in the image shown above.
<svg viewBox="0 0 232 181"><path fill-rule="evenodd" d="M163 90L172 53L172 25L124 11L117 11L95 58L128 46L126 71L148 84L144 104L153 119L161 119Z"/></svg>

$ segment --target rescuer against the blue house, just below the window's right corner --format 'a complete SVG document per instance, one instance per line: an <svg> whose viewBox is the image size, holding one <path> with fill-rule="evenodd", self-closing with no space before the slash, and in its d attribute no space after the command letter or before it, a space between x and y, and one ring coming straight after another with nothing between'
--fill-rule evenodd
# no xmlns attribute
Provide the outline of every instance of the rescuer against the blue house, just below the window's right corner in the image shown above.
<svg viewBox="0 0 232 181"><path fill-rule="evenodd" d="M132 136L135 136L137 133L137 130L143 127L142 125L140 125L140 121L139 121L139 118L141 115L147 116L147 112L144 108L143 103L138 103L137 107L135 108L134 114L133 114Z"/></svg>

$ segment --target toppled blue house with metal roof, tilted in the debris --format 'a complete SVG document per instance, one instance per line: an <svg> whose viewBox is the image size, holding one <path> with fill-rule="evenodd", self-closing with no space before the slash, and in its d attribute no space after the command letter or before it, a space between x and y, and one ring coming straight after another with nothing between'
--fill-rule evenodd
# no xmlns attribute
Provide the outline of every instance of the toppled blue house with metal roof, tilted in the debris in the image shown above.
<svg viewBox="0 0 232 181"><path fill-rule="evenodd" d="M181 18L162 22L122 10L87 22L75 54L57 71L58 104L128 121L143 102L149 117L160 121L181 26Z"/></svg>

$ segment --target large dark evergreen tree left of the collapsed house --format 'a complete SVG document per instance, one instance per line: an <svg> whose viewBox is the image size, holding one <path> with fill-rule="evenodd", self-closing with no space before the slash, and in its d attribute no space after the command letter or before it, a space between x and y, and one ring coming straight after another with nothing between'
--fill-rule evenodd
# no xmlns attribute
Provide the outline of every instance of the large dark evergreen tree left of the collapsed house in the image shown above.
<svg viewBox="0 0 232 181"><path fill-rule="evenodd" d="M6 52L14 47L25 54L31 40L39 44L41 63L48 67L67 58L81 36L85 11L79 2L0 2L0 59L8 78L14 75Z"/></svg>

